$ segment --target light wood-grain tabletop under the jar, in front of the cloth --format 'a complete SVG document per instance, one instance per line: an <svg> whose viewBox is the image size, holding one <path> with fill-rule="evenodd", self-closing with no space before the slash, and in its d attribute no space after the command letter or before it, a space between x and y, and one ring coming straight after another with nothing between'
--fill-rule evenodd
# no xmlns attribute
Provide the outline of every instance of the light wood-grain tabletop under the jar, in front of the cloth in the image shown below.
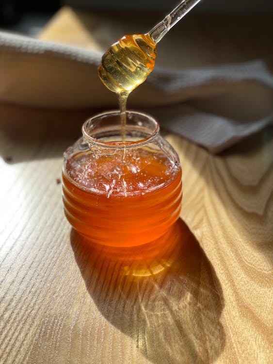
<svg viewBox="0 0 273 364"><path fill-rule="evenodd" d="M272 363L273 132L213 156L172 134L175 239L98 248L63 213L92 110L0 105L0 363Z"/></svg>

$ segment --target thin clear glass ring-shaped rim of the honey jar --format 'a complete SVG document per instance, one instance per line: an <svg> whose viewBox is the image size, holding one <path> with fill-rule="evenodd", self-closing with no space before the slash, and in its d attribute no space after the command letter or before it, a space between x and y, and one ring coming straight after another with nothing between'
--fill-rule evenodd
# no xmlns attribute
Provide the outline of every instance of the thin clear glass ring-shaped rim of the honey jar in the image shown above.
<svg viewBox="0 0 273 364"><path fill-rule="evenodd" d="M155 137L156 135L159 133L160 127L159 127L159 123L156 121L156 119L153 116L150 116L149 114L140 112L140 111L136 111L136 110L126 110L126 115L129 116L131 114L133 115L139 115L139 116L143 116L146 119L149 119L149 121L152 122L154 129L151 131L151 134L147 137L147 138L143 138L143 139L139 139L137 141L104 141L104 140L99 140L96 139L95 137L91 136L90 133L88 132L88 123L90 123L90 121L92 120L96 120L102 117L107 117L110 115L118 115L120 113L119 110L110 110L110 111L105 111L103 113L99 113L96 114L92 117L90 117L89 119L87 119L84 124L82 125L82 134L83 134L83 138L87 143L92 143L94 145L100 146L100 147L107 147L107 148L134 148L134 147L139 147L139 146L143 146L145 144L150 143Z"/></svg>

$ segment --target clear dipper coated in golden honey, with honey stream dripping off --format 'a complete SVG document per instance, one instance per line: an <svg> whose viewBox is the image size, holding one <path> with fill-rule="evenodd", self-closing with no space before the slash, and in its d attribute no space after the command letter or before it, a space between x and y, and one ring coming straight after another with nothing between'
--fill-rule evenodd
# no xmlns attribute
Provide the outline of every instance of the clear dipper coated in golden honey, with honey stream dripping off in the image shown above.
<svg viewBox="0 0 273 364"><path fill-rule="evenodd" d="M126 102L129 93L152 72L156 44L200 0L182 0L149 33L124 35L102 56L98 75L106 87L118 94L122 140L126 139Z"/></svg>

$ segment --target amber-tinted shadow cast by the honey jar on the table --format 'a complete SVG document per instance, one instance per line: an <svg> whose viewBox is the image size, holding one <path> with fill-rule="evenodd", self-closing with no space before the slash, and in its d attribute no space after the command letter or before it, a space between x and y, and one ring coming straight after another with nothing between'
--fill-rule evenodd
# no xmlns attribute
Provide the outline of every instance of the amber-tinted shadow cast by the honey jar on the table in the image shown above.
<svg viewBox="0 0 273 364"><path fill-rule="evenodd" d="M71 246L101 314L153 363L212 363L225 334L224 299L208 258L179 219L141 247L97 246L71 231Z"/></svg>

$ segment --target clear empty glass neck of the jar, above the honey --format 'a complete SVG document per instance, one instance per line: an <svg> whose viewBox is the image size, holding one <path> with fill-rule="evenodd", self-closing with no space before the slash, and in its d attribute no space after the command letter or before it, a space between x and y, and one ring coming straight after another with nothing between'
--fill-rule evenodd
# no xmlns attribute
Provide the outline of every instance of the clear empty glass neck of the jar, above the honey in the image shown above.
<svg viewBox="0 0 273 364"><path fill-rule="evenodd" d="M159 124L138 111L126 111L122 126L119 110L95 115L82 126L83 140L90 147L107 149L136 148L151 143L159 134Z"/></svg>

